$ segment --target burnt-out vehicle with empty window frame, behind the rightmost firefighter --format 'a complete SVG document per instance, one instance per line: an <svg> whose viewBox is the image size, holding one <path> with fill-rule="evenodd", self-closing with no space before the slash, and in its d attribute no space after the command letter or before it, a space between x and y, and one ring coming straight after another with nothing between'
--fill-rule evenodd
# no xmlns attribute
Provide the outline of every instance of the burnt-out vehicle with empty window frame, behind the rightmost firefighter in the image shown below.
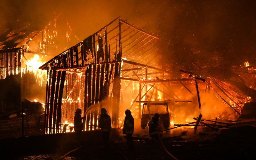
<svg viewBox="0 0 256 160"><path fill-rule="evenodd" d="M145 129L156 113L160 115L159 124L163 124L165 129L170 127L170 115L166 101L146 101L143 103L140 127Z"/></svg>

